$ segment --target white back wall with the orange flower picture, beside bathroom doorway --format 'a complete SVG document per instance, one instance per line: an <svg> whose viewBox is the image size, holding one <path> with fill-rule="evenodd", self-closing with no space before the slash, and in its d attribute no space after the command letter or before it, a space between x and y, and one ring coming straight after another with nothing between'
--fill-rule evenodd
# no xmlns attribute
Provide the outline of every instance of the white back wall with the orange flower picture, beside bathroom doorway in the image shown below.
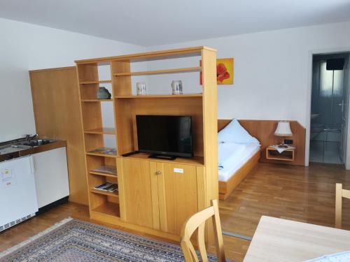
<svg viewBox="0 0 350 262"><path fill-rule="evenodd" d="M218 117L297 120L307 128L308 163L312 53L349 51L350 22L153 46L149 50L197 45L216 48L218 58L235 58L235 84L218 86ZM197 75L193 80L186 77L185 91L195 92L197 79ZM149 85L153 92L164 88L153 82Z"/></svg>

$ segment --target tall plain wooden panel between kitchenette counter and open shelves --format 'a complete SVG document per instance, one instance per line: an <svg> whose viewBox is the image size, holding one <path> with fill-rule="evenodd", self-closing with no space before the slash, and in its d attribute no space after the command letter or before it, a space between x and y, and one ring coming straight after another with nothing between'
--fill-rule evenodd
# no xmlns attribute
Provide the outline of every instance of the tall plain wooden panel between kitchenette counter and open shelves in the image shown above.
<svg viewBox="0 0 350 262"><path fill-rule="evenodd" d="M69 201L88 205L76 66L29 71L29 77L36 133L66 141Z"/></svg>

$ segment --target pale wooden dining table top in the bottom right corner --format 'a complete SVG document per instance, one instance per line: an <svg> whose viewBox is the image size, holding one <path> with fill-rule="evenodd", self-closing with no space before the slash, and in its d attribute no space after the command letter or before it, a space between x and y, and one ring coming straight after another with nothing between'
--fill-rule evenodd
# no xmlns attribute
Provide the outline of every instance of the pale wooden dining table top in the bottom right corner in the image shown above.
<svg viewBox="0 0 350 262"><path fill-rule="evenodd" d="M305 261L345 251L350 231L262 216L244 262Z"/></svg>

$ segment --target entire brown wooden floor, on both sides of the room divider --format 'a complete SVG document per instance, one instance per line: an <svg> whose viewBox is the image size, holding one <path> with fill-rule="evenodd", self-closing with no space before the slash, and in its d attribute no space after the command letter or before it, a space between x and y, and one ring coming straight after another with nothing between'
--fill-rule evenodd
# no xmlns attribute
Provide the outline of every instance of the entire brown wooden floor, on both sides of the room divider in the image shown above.
<svg viewBox="0 0 350 262"><path fill-rule="evenodd" d="M336 182L342 182L345 188L350 189L350 172L345 171L342 166L334 165L311 164L309 168L304 168L259 163L231 196L226 201L221 201L223 230L253 236L263 214L334 226ZM0 233L0 252L66 217L92 221L84 205L74 203L60 205ZM137 233L125 228L93 222ZM345 199L343 224L344 229L350 230L350 201ZM224 245L229 259L242 261L249 241L224 236Z"/></svg>

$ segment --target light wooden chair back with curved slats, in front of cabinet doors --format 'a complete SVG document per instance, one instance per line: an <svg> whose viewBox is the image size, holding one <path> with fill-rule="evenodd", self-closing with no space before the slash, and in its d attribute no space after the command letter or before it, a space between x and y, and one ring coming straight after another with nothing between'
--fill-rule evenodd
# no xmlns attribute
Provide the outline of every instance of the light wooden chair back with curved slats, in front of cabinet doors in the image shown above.
<svg viewBox="0 0 350 262"><path fill-rule="evenodd" d="M186 262L198 262L197 253L190 240L193 232L197 231L197 245L203 262L207 262L207 250L204 240L204 227L207 219L212 218L214 226L214 235L216 241L216 254L218 261L225 261L225 251L223 249L223 233L218 212L218 201L212 200L211 207L206 208L196 214L193 214L183 225L181 232L181 248Z"/></svg>

